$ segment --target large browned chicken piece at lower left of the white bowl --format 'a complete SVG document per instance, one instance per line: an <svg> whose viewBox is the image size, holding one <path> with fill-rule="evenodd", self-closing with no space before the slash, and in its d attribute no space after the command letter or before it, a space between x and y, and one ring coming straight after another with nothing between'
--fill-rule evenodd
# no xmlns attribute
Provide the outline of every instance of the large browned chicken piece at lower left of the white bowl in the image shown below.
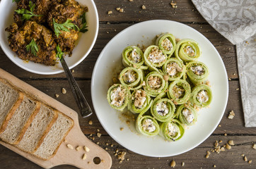
<svg viewBox="0 0 256 169"><path fill-rule="evenodd" d="M18 27L16 23L13 23L13 25L6 28L6 31L10 32L8 36L9 46L19 58L45 65L55 65L57 44L54 42L51 30L28 20L22 27ZM37 56L26 49L32 39L38 46Z"/></svg>

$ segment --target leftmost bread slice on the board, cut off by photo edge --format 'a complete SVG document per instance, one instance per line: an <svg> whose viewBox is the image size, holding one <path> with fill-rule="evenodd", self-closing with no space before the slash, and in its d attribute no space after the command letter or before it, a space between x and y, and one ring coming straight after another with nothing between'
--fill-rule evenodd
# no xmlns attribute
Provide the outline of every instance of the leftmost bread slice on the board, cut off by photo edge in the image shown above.
<svg viewBox="0 0 256 169"><path fill-rule="evenodd" d="M6 80L0 79L0 133L7 126L4 122L10 120L21 101L23 101L23 93L14 89Z"/></svg>

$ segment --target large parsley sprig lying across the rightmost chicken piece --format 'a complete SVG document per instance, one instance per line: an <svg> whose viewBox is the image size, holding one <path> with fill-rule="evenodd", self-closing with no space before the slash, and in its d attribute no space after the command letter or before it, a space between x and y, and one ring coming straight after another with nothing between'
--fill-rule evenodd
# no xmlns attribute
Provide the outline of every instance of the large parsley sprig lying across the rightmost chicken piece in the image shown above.
<svg viewBox="0 0 256 169"><path fill-rule="evenodd" d="M65 23L55 23L55 20L53 18L53 27L54 27L54 32L57 37L59 37L59 34L61 33L60 31L63 30L65 32L69 32L69 29L78 29L77 25L74 23L71 23L71 20L66 20Z"/></svg>

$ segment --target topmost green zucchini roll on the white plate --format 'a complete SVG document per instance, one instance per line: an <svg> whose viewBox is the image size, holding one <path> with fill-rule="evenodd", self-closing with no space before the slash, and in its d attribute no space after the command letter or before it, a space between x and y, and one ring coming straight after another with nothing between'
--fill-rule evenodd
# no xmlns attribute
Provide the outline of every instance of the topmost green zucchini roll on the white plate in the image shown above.
<svg viewBox="0 0 256 169"><path fill-rule="evenodd" d="M156 45L159 46L164 54L171 56L176 47L175 37L169 33L162 34L156 39Z"/></svg>

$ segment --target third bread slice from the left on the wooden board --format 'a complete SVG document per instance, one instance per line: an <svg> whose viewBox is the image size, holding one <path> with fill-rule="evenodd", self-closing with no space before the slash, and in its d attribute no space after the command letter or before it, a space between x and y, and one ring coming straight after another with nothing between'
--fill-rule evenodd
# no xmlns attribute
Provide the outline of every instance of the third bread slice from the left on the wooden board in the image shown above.
<svg viewBox="0 0 256 169"><path fill-rule="evenodd" d="M40 111L25 132L23 139L16 146L28 153L34 153L42 144L47 133L58 118L57 111L45 104L41 104Z"/></svg>

